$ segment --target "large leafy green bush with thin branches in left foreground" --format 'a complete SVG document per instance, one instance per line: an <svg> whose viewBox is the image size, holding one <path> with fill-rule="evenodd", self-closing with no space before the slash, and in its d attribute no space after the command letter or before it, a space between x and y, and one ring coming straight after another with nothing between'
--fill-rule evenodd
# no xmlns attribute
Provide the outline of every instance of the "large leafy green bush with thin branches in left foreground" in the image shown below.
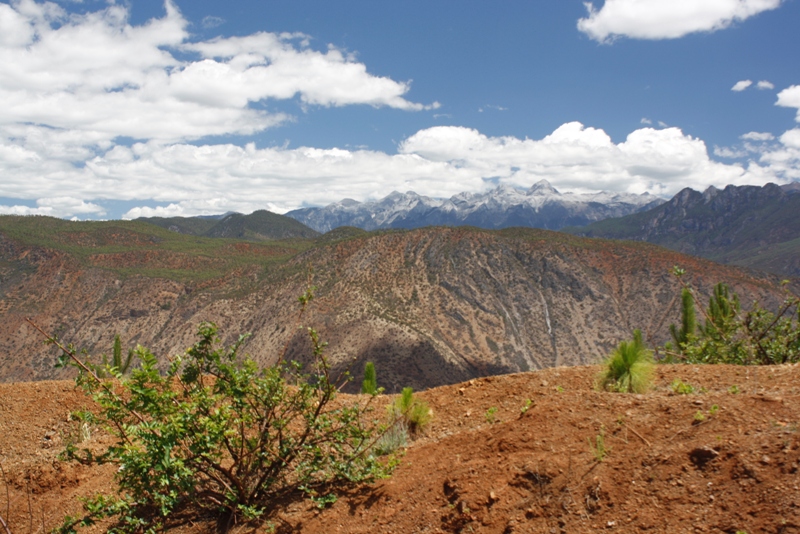
<svg viewBox="0 0 800 534"><path fill-rule="evenodd" d="M87 515L67 518L61 532L115 517L118 531L152 531L187 507L253 519L276 498L300 491L318 504L335 500L336 484L388 476L394 459L374 453L378 428L366 417L373 397L335 402L338 391L321 343L308 330L314 360L308 370L283 361L260 369L219 344L216 326L203 323L198 341L170 360L137 347L141 366L124 377L107 366L98 377L71 347L61 364L78 367L78 384L98 413L80 417L105 428L115 442L100 456L72 450L83 461L118 466L115 495L84 502Z"/></svg>

